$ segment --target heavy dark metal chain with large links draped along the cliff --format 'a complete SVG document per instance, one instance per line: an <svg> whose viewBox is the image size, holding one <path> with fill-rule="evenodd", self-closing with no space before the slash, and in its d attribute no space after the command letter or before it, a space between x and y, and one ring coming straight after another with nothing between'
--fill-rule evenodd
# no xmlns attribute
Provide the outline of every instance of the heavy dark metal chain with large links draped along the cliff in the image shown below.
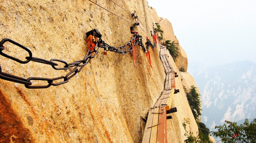
<svg viewBox="0 0 256 143"><path fill-rule="evenodd" d="M92 31L98 32L97 29L93 29ZM95 33L95 35L98 36L99 33ZM5 42L10 42L10 43L12 43L14 45L17 45L18 47L24 49L25 51L27 51L29 53L29 56L25 57L26 58L25 61L22 61L20 59L15 58L15 57L9 56L6 53L3 53L3 50L5 49L3 44ZM15 60L15 61L17 61L17 62L19 62L21 64L26 64L26 63L28 63L30 61L39 62L39 63L42 63L42 64L51 65L52 68L55 69L55 70L67 70L67 69L69 69L71 67L74 67L74 68L73 68L73 70L71 72L69 72L65 76L60 76L60 77L56 77L56 78L29 77L29 78L25 79L25 78L22 78L22 77L18 77L18 76L15 76L15 75L11 75L11 74L7 74L7 73L2 72L2 68L0 66L0 78L4 79L4 80L7 80L7 81L24 84L25 87L28 88L28 89L44 89L44 88L50 87L51 85L57 86L57 85L61 85L61 84L69 82L70 78L72 78L77 73L79 73L84 68L84 66L87 65L91 61L91 59L96 56L96 54L98 53L100 48L103 48L104 50L112 51L112 52L115 52L115 53L126 54L127 52L131 52L132 51L132 47L137 45L137 44L139 44L142 47L143 51L146 51L144 45L142 44L142 36L140 36L137 32L136 32L136 34L132 35L131 40L128 41L124 46L117 47L117 48L115 48L113 46L110 46L109 44L105 43L101 39L101 36L100 36L99 40L97 40L97 42L95 43L95 47L94 47L93 51L90 51L91 47L88 48L87 53L86 53L86 55L85 55L83 60L77 60L77 61L74 61L74 62L71 62L71 63L68 64L67 62L65 62L63 60L60 60L60 59L51 59L50 61L48 61L48 60L45 60L45 59L33 57L32 56L32 52L28 48L24 47L23 45L15 42L13 40L10 40L10 39L6 38L6 39L3 39L0 42L0 54L2 56L6 57L6 58ZM124 50L127 47L129 47L129 48L127 50ZM92 54L92 53L94 53L94 54ZM65 66L64 67L57 67L58 64L55 61L61 62ZM58 83L54 83L54 81L57 81L59 79L63 79L63 81L62 82L58 82ZM34 80L34 81L47 81L48 85L32 85L31 80Z"/></svg>

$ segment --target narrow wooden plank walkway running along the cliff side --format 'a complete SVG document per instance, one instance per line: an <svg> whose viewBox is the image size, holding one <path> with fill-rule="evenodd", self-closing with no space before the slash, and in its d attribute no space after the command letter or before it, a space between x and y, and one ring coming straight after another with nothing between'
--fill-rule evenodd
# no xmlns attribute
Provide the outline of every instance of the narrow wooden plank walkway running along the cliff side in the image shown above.
<svg viewBox="0 0 256 143"><path fill-rule="evenodd" d="M146 127L142 143L167 143L166 111L170 110L175 91L175 73L167 55L165 46L160 45L160 59L166 73L164 91L155 103L153 109L148 112Z"/></svg>

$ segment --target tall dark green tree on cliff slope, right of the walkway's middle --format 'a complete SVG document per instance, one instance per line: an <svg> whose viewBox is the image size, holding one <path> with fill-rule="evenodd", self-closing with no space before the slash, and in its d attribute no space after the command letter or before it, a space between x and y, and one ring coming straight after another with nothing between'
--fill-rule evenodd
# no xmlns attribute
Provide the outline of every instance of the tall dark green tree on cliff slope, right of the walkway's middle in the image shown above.
<svg viewBox="0 0 256 143"><path fill-rule="evenodd" d="M201 114L201 109L200 109L200 106L201 106L201 101L200 101L200 94L198 94L196 92L196 87L194 85L191 86L191 91L187 94L187 99L188 99L188 103L189 103L189 106L192 110L192 113L194 115L194 118L196 120L198 120L198 117Z"/></svg>

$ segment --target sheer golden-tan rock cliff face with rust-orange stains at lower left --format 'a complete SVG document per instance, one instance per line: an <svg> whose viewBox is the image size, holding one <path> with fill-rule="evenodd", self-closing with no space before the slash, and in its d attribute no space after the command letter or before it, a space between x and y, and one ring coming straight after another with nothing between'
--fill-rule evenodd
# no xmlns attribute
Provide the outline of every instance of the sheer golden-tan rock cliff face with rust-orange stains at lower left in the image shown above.
<svg viewBox="0 0 256 143"><path fill-rule="evenodd" d="M146 0L117 2L126 10L136 10L144 30L152 30L153 19ZM134 22L130 13L111 1L97 0L96 3ZM31 50L33 57L46 60L56 58L70 63L83 59L87 46L83 35L93 28L114 47L131 40L131 23L90 1L1 0L0 10L0 38L12 39ZM135 30L145 43L146 33L141 28ZM150 40L153 41L152 37ZM26 60L28 56L25 50L11 43L5 43L4 47L4 53L18 59ZM68 83L47 89L26 89L22 84L0 79L0 142L139 142L140 116L145 117L161 95L165 73L159 48L150 52L153 68L146 54L139 47L135 50L136 67L130 53L123 59L114 52L105 56L100 49ZM2 72L26 79L55 78L72 70L54 70L32 61L20 64L3 56L0 63ZM176 88L180 93L174 96L172 106L177 107L178 112L168 120L168 142L180 143L185 140L184 118L191 119L189 129L194 134L198 128L180 76ZM143 123L142 134L144 127Z"/></svg>

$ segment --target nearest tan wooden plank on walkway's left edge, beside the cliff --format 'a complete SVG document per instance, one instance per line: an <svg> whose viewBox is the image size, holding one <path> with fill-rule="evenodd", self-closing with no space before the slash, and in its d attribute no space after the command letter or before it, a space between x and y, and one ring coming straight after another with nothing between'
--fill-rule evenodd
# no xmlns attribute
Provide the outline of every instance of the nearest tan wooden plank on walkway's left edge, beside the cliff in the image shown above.
<svg viewBox="0 0 256 143"><path fill-rule="evenodd" d="M146 127L144 130L143 138L142 138L142 143L149 143L149 140L150 140L150 134L151 134L152 128L148 128L148 127L152 126L153 116L154 116L152 112L154 112L154 110L149 110L148 112L148 119L147 119Z"/></svg>

